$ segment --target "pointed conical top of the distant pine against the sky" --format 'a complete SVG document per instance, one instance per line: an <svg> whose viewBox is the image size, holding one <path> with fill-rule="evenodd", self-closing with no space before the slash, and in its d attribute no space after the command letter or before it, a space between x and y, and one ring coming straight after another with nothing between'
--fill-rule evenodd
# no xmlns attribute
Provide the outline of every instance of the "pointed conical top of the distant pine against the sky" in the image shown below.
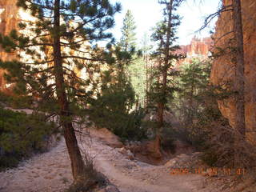
<svg viewBox="0 0 256 192"><path fill-rule="evenodd" d="M134 16L130 10L127 10L125 18L122 24L122 37L120 40L120 46L124 51L130 51L136 46L136 26L134 22Z"/></svg>

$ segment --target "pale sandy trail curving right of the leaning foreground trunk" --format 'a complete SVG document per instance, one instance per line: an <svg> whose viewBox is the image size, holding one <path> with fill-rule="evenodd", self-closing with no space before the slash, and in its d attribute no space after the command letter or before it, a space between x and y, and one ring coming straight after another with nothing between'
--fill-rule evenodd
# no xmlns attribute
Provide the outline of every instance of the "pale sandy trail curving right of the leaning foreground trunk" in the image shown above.
<svg viewBox="0 0 256 192"><path fill-rule="evenodd" d="M93 138L90 149L98 170L122 192L191 192L202 188L202 176L198 174L171 175L166 166L131 161L98 138Z"/></svg>

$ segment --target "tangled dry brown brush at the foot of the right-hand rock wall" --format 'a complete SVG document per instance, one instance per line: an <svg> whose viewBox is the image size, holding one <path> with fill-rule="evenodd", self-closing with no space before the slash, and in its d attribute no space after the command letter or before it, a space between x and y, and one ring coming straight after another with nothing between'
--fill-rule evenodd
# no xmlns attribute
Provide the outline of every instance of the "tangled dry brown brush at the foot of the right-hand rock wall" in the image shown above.
<svg viewBox="0 0 256 192"><path fill-rule="evenodd" d="M217 155L217 166L254 170L256 148L252 142L230 126L216 125L210 132L209 144Z"/></svg>

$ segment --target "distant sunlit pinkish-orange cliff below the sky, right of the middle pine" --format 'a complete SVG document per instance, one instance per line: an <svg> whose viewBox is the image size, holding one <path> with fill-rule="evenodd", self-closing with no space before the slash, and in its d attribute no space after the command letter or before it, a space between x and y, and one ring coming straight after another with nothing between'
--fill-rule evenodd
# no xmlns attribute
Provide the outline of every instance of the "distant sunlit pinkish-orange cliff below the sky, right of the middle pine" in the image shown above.
<svg viewBox="0 0 256 192"><path fill-rule="evenodd" d="M186 58L177 62L175 68L178 69L184 62L190 62L192 58L208 58L212 45L213 40L211 38L192 38L190 45L180 46L181 49L176 51L176 54L186 54Z"/></svg>

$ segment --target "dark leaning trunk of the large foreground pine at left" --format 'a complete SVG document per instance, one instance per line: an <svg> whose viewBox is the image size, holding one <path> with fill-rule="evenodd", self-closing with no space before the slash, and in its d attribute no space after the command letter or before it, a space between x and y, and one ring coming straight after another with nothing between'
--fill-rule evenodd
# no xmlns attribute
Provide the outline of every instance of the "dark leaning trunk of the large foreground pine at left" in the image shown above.
<svg viewBox="0 0 256 192"><path fill-rule="evenodd" d="M58 104L60 106L60 122L64 130L66 147L70 155L74 181L78 181L84 174L84 163L74 134L69 103L66 97L64 75L62 68L62 54L60 45L60 0L54 2L54 76L56 81Z"/></svg>

